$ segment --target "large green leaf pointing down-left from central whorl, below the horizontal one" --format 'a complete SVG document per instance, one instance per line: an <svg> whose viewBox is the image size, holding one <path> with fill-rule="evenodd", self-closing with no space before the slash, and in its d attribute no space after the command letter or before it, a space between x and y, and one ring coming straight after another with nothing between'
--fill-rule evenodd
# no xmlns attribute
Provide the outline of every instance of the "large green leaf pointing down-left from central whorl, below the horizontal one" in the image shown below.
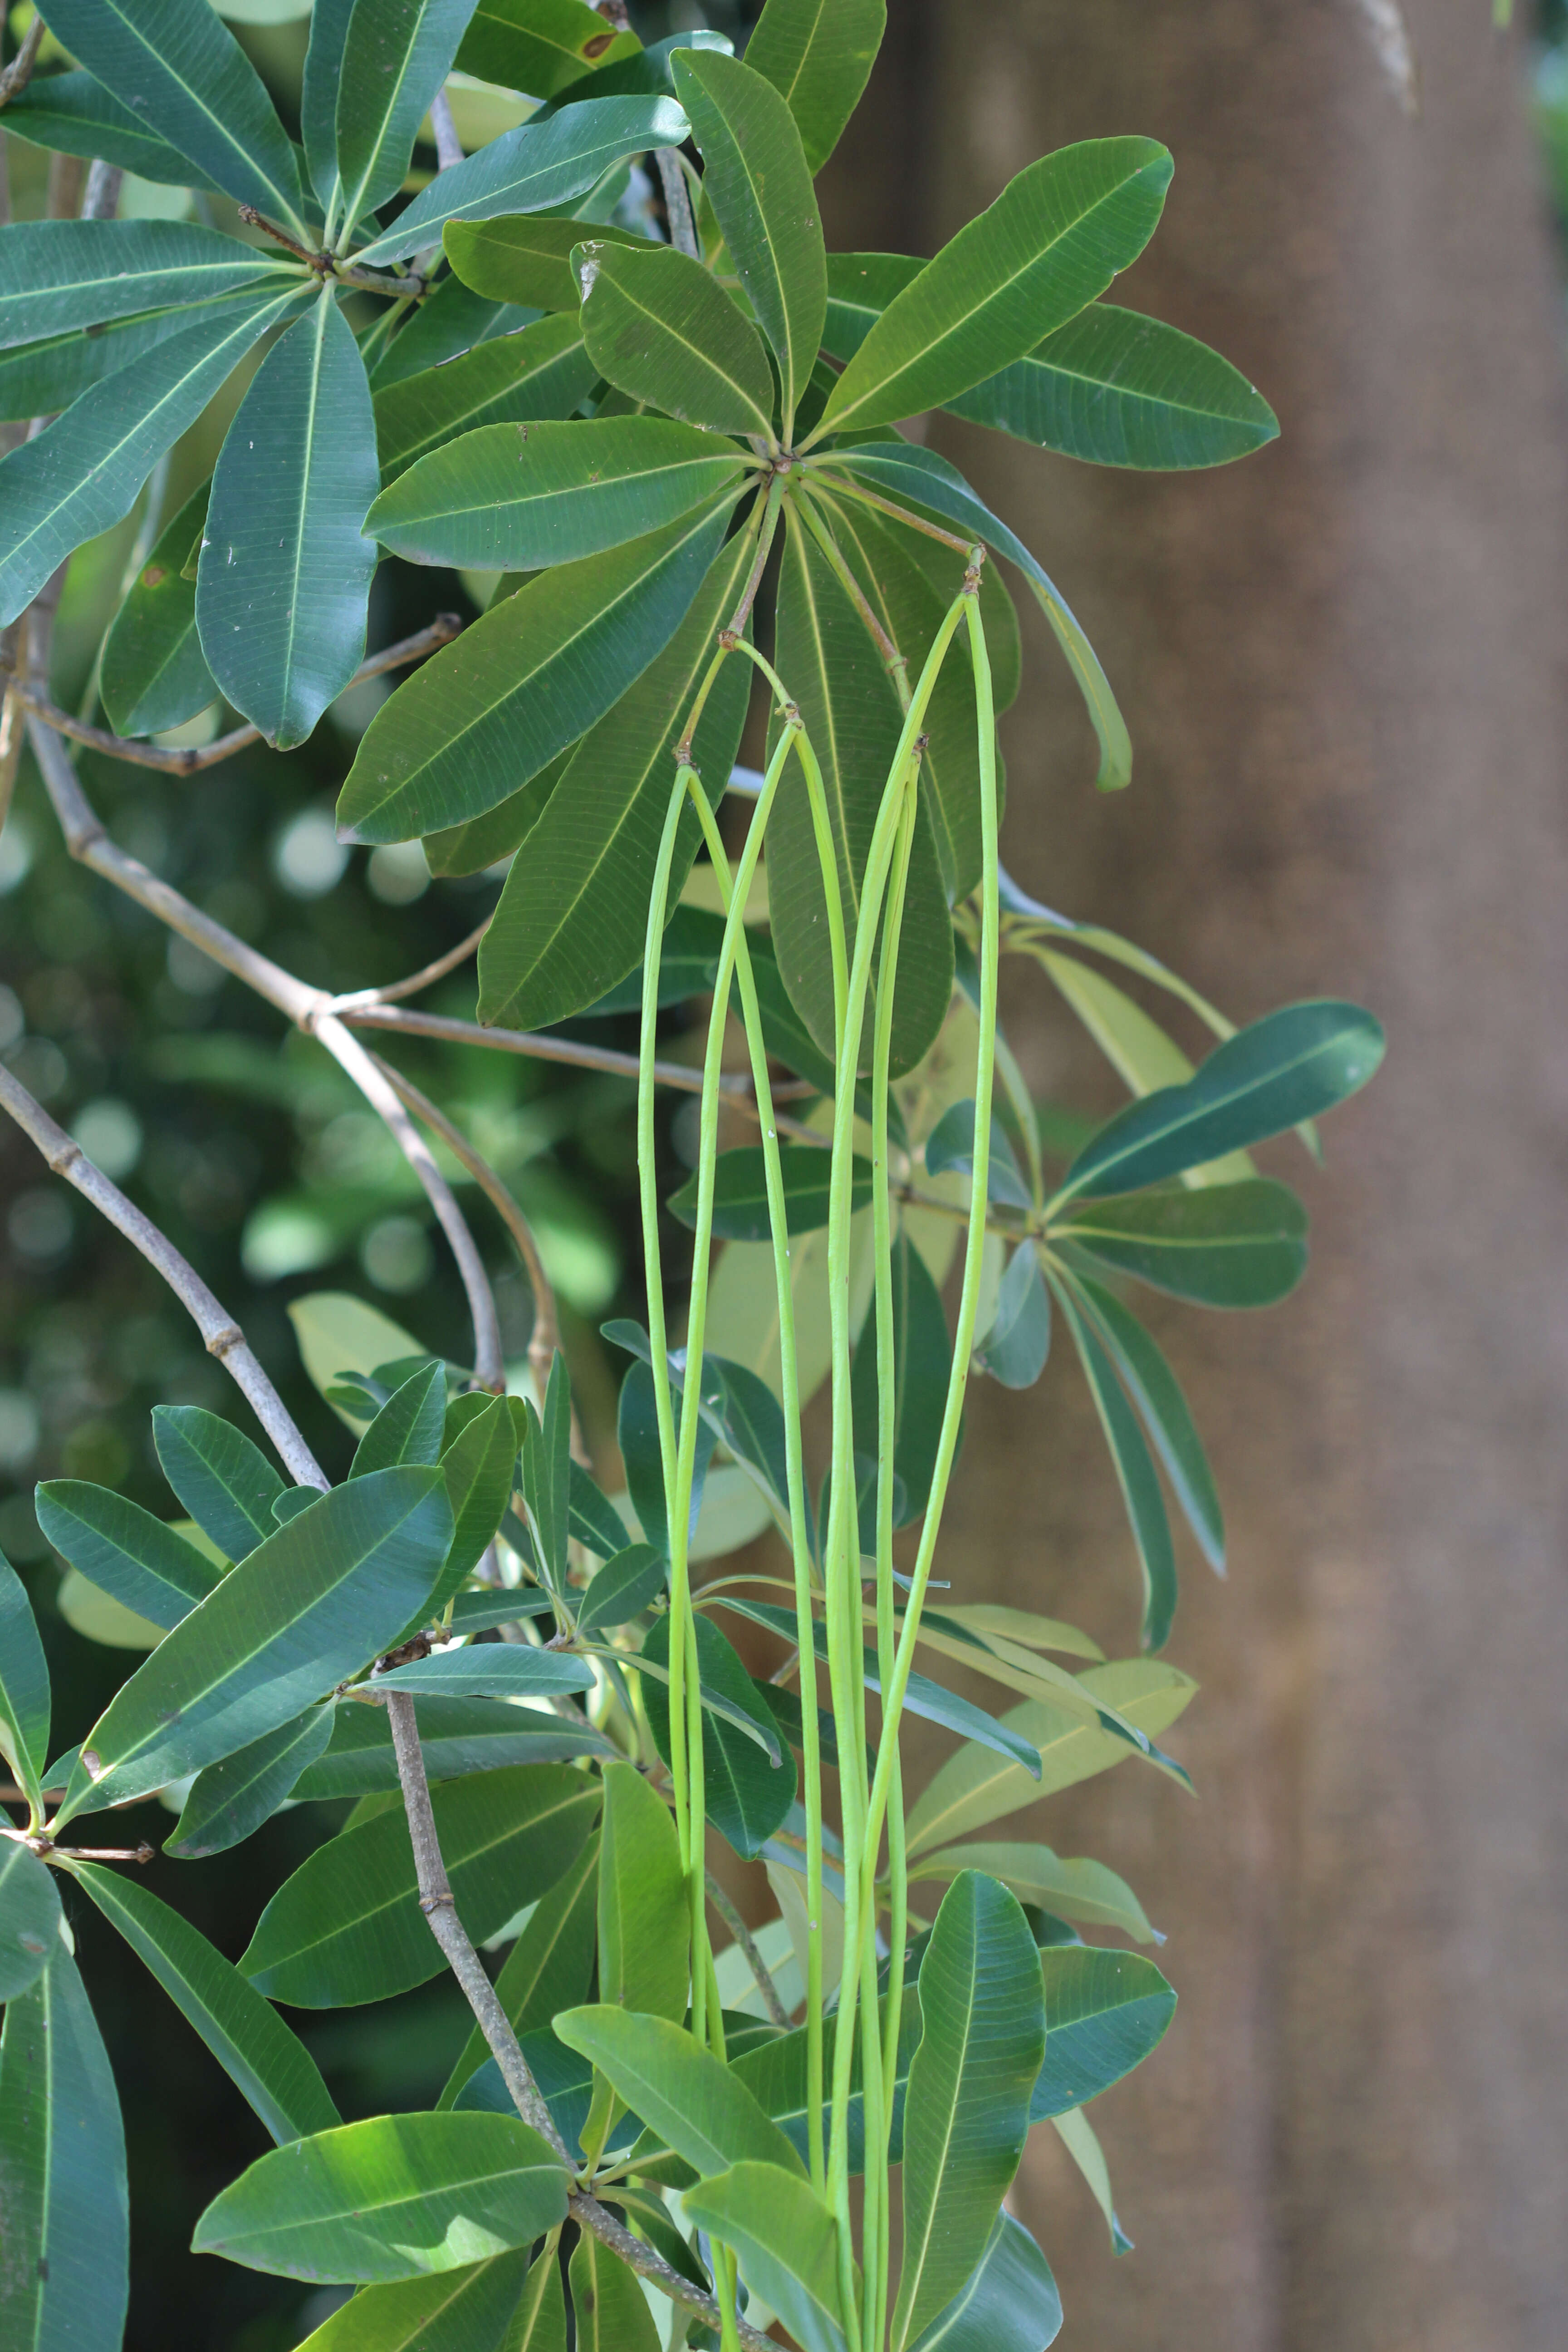
<svg viewBox="0 0 1568 2352"><path fill-rule="evenodd" d="M339 800L341 830L411 840L482 816L536 776L665 649L731 503L491 604L376 713Z"/></svg>

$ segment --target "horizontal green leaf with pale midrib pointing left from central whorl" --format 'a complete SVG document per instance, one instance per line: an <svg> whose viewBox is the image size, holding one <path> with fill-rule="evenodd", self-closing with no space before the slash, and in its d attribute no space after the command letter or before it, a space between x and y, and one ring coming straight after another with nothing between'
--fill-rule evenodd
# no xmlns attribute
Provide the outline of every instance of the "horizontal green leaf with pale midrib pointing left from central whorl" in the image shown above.
<svg viewBox="0 0 1568 2352"><path fill-rule="evenodd" d="M677 522L743 480L733 442L658 416L496 423L416 463L364 527L407 562L541 572Z"/></svg>

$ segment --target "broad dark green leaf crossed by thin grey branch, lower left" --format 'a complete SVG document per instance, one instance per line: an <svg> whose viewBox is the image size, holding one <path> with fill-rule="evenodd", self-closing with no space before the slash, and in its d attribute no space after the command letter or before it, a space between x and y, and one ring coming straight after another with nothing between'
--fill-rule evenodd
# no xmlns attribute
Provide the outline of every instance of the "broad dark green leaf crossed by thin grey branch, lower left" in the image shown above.
<svg viewBox="0 0 1568 2352"><path fill-rule="evenodd" d="M569 1764L522 1764L447 1780L430 1802L458 1917L484 1943L522 1893L543 1893L569 1867L599 1792ZM381 2002L440 1976L407 1820L376 1813L317 1846L263 1910L240 1966L294 2009Z"/></svg>

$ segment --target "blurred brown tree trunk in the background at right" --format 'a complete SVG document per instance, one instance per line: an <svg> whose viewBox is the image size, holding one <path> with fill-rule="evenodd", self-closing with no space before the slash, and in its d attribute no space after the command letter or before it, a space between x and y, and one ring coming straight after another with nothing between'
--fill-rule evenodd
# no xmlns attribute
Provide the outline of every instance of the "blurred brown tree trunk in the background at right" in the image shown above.
<svg viewBox="0 0 1568 2352"><path fill-rule="evenodd" d="M1065 2352L1544 2352L1568 2343L1568 402L1521 59L1483 0L1415 0L1408 122L1352 5L893 16L830 240L931 252L1046 148L1161 136L1166 221L1119 292L1284 423L1187 480L933 430L1077 604L1138 746L1098 802L1034 630L1009 863L1241 1018L1342 993L1389 1028L1328 1169L1267 1155L1314 1211L1302 1296L1152 1317L1232 1524L1227 1588L1187 1552L1171 1646L1204 1682L1173 1736L1201 1802L1126 1764L1025 1825L1128 1872L1180 2011L1093 2110L1138 2253L1110 2263L1053 2145L1020 2211ZM1039 1089L1110 1108L1063 1009L1023 971L1009 997ZM1065 1348L1044 1392L971 1414L950 1524L966 1597L1133 1649Z"/></svg>

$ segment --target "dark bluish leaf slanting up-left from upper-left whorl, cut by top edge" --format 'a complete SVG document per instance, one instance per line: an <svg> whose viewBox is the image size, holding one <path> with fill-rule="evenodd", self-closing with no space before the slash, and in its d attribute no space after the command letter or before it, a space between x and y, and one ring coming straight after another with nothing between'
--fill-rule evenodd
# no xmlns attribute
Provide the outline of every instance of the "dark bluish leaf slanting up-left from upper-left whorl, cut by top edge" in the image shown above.
<svg viewBox="0 0 1568 2352"><path fill-rule="evenodd" d="M242 205L299 226L289 134L261 75L205 0L49 0L47 26L99 82Z"/></svg>

